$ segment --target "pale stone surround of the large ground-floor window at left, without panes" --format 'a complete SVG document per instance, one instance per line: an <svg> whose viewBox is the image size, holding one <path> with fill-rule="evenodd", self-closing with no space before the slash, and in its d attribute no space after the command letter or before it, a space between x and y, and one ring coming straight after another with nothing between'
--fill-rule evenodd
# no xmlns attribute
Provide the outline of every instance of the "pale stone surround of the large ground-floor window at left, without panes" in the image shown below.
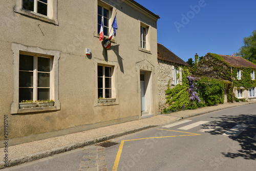
<svg viewBox="0 0 256 171"><path fill-rule="evenodd" d="M60 51L46 50L39 47L29 47L21 44L12 43L11 49L13 52L13 102L11 104L11 114L22 114L31 112L44 112L44 111L56 111L60 110L60 102L58 99L58 60L60 58ZM54 100L54 106L44 108L28 108L19 109L19 54L22 53L34 53L42 56L52 56L52 99Z"/></svg>

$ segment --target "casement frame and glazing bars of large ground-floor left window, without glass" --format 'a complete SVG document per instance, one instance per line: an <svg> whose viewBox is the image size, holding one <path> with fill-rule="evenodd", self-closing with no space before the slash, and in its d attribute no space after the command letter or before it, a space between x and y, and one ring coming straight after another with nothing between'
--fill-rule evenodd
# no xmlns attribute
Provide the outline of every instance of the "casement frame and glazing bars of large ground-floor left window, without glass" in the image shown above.
<svg viewBox="0 0 256 171"><path fill-rule="evenodd" d="M33 87L29 87L30 89L33 89L33 99L23 99L23 100L33 100L33 101L37 101L37 100L46 100L46 99L38 99L38 89L49 89L49 99L48 100L51 100L53 99L53 88L52 88L52 85L53 85L53 82L52 82L52 65L53 65L53 56L50 56L50 55L42 55L42 54L37 54L37 53L31 53L31 52L24 52L24 51L20 51L19 55L29 55L29 56L33 56L33 71L25 71L25 72L33 72ZM38 58L39 57L42 57L42 58L48 58L50 59L50 72L42 72L42 71L38 71ZM19 72L22 71L24 72L23 70L19 70ZM38 87L38 73L48 73L50 75L50 78L49 78L49 86L50 87ZM20 77L19 77L20 79ZM23 89L23 88L27 88L27 87L20 87L19 85L19 89Z"/></svg>

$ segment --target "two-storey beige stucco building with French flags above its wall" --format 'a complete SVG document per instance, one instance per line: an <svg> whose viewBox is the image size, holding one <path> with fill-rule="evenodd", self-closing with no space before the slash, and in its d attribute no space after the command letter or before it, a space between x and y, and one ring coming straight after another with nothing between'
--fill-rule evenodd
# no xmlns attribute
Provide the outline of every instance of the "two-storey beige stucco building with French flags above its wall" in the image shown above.
<svg viewBox="0 0 256 171"><path fill-rule="evenodd" d="M0 115L9 145L158 114L158 15L132 0L44 2L0 2ZM115 14L105 50L101 18L108 38ZM54 105L19 107L45 99Z"/></svg>

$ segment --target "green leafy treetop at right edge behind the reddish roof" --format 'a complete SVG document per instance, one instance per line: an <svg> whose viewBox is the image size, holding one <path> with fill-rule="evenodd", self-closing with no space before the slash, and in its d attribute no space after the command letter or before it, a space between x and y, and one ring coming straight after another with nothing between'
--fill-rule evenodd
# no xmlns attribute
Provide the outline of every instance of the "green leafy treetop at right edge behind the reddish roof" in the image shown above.
<svg viewBox="0 0 256 171"><path fill-rule="evenodd" d="M249 37L244 37L244 46L239 49L236 56L241 56L253 63L256 63L256 30Z"/></svg>

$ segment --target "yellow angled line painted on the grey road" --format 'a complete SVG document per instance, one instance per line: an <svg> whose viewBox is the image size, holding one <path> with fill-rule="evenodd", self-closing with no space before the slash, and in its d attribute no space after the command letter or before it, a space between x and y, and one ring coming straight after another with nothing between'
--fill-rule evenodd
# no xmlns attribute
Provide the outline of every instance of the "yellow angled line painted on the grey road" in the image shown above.
<svg viewBox="0 0 256 171"><path fill-rule="evenodd" d="M163 129L158 129L158 130L163 130ZM173 130L164 130L164 131L173 131ZM121 157L124 141L135 141L135 140L144 140L144 139L152 139L152 138L167 138L167 137L182 137L182 136L201 135L201 134L187 133L187 132L182 132L182 131L173 131L173 132L186 133L186 134L189 134L189 135L174 135L174 136L165 136L165 137L148 137L148 138L139 138L139 139L132 139L132 140L122 140L121 143L120 143L117 155L116 155L116 160L115 160L112 171L117 171L117 167L118 167L119 160L120 160L120 157Z"/></svg>

